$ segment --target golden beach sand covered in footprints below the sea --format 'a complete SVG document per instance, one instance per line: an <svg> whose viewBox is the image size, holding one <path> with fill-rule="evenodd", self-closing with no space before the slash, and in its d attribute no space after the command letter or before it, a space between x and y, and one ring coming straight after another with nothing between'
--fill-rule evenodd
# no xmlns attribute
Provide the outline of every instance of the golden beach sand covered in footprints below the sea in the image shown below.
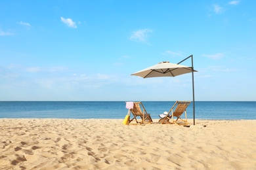
<svg viewBox="0 0 256 170"><path fill-rule="evenodd" d="M0 169L256 168L256 120L122 121L0 119Z"/></svg>

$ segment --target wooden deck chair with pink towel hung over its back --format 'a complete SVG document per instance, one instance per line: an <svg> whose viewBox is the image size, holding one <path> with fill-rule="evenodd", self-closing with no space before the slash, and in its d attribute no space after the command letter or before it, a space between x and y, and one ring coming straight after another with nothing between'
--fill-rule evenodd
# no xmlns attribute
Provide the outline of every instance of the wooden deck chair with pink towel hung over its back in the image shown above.
<svg viewBox="0 0 256 170"><path fill-rule="evenodd" d="M128 124L130 124L131 122L136 122L137 124L151 124L153 122L152 118L150 117L150 114L146 112L146 109L142 105L142 102L134 102L133 104L133 109L131 109L131 116L133 116L133 118L129 120Z"/></svg>

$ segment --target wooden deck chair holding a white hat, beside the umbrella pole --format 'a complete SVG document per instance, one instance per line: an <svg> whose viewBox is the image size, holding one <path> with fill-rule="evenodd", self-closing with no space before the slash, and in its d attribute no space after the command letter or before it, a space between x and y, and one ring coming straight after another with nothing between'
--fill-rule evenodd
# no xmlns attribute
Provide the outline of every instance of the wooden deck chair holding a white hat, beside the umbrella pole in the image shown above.
<svg viewBox="0 0 256 170"><path fill-rule="evenodd" d="M169 110L167 114L160 114L161 124L178 124L178 125L187 125L188 121L186 118L186 108L191 103L191 101L176 101L173 107ZM175 111L173 111L175 109ZM185 112L185 119L181 118L181 115ZM176 117L177 119L174 120L173 118ZM171 121L170 121L171 120Z"/></svg>

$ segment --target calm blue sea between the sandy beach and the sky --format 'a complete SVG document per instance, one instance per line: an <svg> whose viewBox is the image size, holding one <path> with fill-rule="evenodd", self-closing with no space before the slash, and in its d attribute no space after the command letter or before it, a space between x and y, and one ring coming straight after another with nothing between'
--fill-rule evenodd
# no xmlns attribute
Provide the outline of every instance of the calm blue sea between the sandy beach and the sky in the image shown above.
<svg viewBox="0 0 256 170"><path fill-rule="evenodd" d="M175 101L142 101L152 118L169 111ZM255 120L256 101L196 101L196 118ZM193 104L188 118L193 118ZM124 118L125 101L0 101L0 118Z"/></svg>

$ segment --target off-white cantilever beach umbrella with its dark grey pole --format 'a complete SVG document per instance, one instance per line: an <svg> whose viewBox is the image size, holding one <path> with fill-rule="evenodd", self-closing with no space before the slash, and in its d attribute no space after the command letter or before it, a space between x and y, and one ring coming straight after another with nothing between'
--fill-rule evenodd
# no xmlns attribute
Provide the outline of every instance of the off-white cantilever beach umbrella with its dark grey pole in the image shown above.
<svg viewBox="0 0 256 170"><path fill-rule="evenodd" d="M186 59L191 58L192 60L192 67L188 67L186 65L179 65ZM189 56L186 59L183 59L181 62L174 64L169 63L169 61L163 61L131 75L134 76L141 76L142 78L150 78L150 77L160 77L160 76L179 76L186 73L192 73L192 90L193 90L193 120L195 125L195 101L194 101L194 70L193 67L193 55Z"/></svg>

